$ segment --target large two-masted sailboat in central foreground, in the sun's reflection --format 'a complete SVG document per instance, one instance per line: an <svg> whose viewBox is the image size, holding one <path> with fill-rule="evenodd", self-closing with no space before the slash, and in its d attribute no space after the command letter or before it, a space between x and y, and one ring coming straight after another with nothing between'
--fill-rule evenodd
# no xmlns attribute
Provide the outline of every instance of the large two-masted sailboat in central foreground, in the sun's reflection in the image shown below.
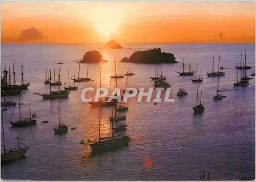
<svg viewBox="0 0 256 182"><path fill-rule="evenodd" d="M113 126L113 123L112 123ZM100 110L99 110L99 133L98 133L98 140L90 141L88 140L87 143L82 140L80 144L83 145L90 145L92 148L93 153L100 153L105 152L108 150L118 149L124 145L128 145L130 141L130 137L128 137L126 134L120 134L117 136L114 136L113 127L112 127L112 136L111 137L104 137L100 138Z"/></svg>

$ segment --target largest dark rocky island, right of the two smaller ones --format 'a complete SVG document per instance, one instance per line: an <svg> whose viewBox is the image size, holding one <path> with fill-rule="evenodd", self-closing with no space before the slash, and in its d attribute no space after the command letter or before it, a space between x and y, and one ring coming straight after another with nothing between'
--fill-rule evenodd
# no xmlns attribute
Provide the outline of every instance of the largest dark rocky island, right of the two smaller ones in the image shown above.
<svg viewBox="0 0 256 182"><path fill-rule="evenodd" d="M160 48L147 51L136 51L132 54L132 56L129 58L124 57L120 62L148 64L177 63L174 54L164 53Z"/></svg>

